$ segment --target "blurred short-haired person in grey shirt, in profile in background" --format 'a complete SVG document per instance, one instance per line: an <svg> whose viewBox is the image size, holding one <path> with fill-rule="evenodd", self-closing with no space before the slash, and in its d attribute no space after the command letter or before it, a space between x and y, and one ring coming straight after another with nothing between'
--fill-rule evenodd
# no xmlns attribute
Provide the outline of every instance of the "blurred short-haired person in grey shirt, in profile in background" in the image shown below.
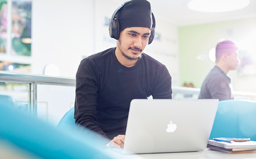
<svg viewBox="0 0 256 159"><path fill-rule="evenodd" d="M217 44L215 66L204 79L199 99L231 100L232 83L228 71L238 67L238 46L233 41L222 41Z"/></svg>

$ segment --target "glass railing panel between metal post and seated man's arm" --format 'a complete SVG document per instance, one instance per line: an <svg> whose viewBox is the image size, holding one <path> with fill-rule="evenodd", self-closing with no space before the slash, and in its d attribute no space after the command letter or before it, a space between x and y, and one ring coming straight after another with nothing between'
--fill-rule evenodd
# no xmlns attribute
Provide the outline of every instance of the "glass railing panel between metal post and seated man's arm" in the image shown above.
<svg viewBox="0 0 256 159"><path fill-rule="evenodd" d="M74 106L75 86L37 85L37 118L57 126Z"/></svg>

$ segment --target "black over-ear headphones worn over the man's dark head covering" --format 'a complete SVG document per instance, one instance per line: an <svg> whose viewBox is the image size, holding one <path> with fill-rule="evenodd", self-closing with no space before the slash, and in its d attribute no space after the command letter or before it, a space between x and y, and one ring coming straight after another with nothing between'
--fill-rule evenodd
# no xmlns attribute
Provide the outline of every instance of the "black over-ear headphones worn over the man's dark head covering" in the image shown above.
<svg viewBox="0 0 256 159"><path fill-rule="evenodd" d="M130 0L128 0L130 1ZM108 27L108 31L109 31L109 36L118 40L119 39L119 35L120 35L120 30L119 30L119 21L118 19L116 18L116 14L117 12L125 5L126 2L128 1L125 1L121 6L119 6L115 12L113 13L112 17L111 17L111 21L109 22L109 27ZM155 16L152 13L152 27L151 27L151 31L150 31L150 36L149 36L149 42L148 44L150 44L154 37L155 37Z"/></svg>

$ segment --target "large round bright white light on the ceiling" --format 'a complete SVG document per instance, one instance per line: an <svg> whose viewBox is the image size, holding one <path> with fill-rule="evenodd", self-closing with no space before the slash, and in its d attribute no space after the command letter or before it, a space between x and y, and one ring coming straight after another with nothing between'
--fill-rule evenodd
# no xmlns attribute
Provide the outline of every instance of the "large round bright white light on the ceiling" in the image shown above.
<svg viewBox="0 0 256 159"><path fill-rule="evenodd" d="M228 12L248 6L250 0L191 0L188 8L198 12Z"/></svg>

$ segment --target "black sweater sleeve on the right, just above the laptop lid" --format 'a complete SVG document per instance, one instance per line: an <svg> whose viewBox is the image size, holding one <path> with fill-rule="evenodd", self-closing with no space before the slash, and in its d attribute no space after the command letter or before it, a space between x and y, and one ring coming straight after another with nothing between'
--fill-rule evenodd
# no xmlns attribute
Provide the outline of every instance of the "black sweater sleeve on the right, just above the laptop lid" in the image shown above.
<svg viewBox="0 0 256 159"><path fill-rule="evenodd" d="M172 77L165 65L161 65L156 74L153 99L172 99Z"/></svg>

